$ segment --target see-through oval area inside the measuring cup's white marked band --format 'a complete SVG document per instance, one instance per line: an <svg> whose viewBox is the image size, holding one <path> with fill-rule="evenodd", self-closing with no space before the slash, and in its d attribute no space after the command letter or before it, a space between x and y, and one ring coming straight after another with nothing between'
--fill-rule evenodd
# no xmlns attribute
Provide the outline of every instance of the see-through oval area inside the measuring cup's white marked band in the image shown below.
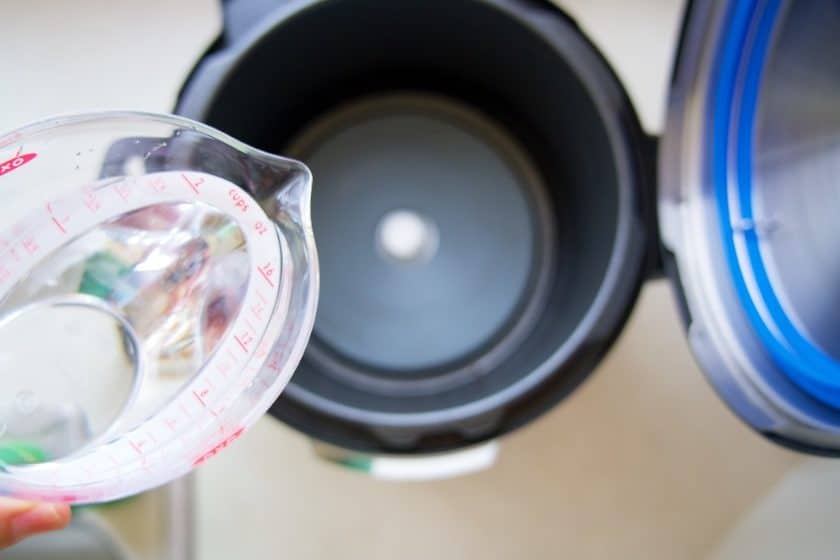
<svg viewBox="0 0 840 560"><path fill-rule="evenodd" d="M125 213L40 260L0 304L0 365L17 372L0 378L0 469L153 415L216 350L249 270L239 225L201 202Z"/></svg>

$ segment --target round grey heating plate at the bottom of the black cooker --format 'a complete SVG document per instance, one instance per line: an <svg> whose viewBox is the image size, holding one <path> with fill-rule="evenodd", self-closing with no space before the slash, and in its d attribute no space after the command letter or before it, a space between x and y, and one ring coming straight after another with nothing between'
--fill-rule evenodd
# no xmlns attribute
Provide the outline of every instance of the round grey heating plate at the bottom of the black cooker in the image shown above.
<svg viewBox="0 0 840 560"><path fill-rule="evenodd" d="M310 350L323 344L350 376L439 377L492 367L527 334L554 224L538 210L541 177L498 126L449 99L393 94L328 113L287 152L319 177Z"/></svg>

